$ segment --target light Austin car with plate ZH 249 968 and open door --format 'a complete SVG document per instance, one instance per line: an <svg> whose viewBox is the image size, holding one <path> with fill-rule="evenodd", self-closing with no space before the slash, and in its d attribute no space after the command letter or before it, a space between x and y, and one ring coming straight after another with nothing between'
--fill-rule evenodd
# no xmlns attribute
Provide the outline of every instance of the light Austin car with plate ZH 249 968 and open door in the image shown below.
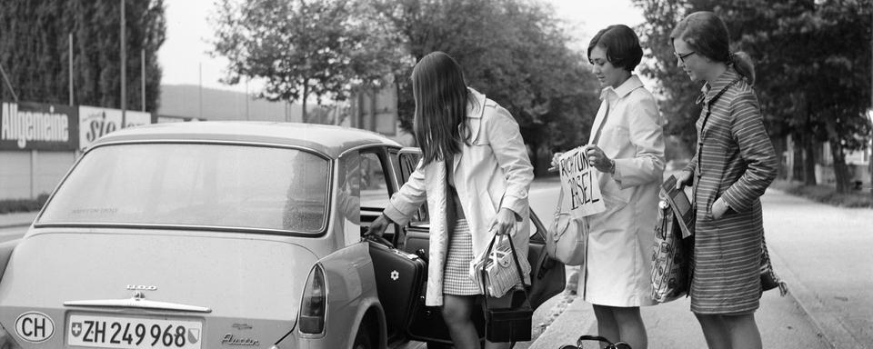
<svg viewBox="0 0 873 349"><path fill-rule="evenodd" d="M362 238L417 156L322 125L106 135L25 236L0 244L0 348L449 344L424 306L426 210L389 228L392 247ZM536 306L563 290L564 268L533 225Z"/></svg>

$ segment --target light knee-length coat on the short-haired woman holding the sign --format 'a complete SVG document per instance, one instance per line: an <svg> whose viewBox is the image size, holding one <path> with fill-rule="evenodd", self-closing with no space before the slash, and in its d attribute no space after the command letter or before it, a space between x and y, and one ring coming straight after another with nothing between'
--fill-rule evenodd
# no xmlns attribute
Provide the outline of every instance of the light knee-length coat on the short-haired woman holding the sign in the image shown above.
<svg viewBox="0 0 873 349"><path fill-rule="evenodd" d="M581 294L591 304L654 304L651 255L657 192L664 173L662 117L655 97L637 75L601 93L588 144L604 122L597 146L616 162L613 175L596 172L607 210L588 216L590 226ZM608 115L607 115L608 104Z"/></svg>

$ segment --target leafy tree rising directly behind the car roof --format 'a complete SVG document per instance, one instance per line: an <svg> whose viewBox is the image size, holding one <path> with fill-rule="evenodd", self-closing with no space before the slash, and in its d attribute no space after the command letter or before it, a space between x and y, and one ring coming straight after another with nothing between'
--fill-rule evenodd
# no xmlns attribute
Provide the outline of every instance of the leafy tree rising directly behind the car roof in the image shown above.
<svg viewBox="0 0 873 349"><path fill-rule="evenodd" d="M346 98L353 85L378 85L393 52L351 0L222 0L214 18L215 55L230 61L225 81L262 78L271 101ZM387 64L386 64L387 63Z"/></svg>

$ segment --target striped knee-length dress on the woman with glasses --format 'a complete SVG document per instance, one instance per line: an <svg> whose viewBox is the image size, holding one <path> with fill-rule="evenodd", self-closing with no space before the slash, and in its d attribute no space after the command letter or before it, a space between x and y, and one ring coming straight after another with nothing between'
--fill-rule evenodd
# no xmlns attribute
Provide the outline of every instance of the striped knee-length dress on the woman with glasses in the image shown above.
<svg viewBox="0 0 873 349"><path fill-rule="evenodd" d="M760 196L777 175L777 158L751 86L745 80L731 85L740 78L729 67L704 86L697 152L686 168L695 174L697 223L690 293L696 314L754 313L761 295ZM712 101L722 90L724 94ZM714 103L707 117L710 102ZM719 197L730 209L715 220L711 207Z"/></svg>

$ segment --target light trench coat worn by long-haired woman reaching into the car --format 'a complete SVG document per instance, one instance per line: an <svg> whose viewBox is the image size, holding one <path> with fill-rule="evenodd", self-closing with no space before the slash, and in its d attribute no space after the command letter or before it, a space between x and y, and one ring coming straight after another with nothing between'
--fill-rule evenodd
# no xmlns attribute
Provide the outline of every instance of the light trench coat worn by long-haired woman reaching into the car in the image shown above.
<svg viewBox="0 0 873 349"><path fill-rule="evenodd" d="M527 155L516 120L509 112L473 89L467 106L469 143L462 143L455 155L453 173L467 224L472 234L476 260L485 254L494 234L488 234L497 211L506 207L516 213L517 224L512 233L518 258L527 261L530 232L527 190L534 179L533 166ZM447 166L434 161L419 163L406 184L391 197L384 213L397 224L406 224L421 204L427 202L430 214L430 242L427 266L425 304L443 304L443 272L446 267L449 232L453 222L447 222ZM522 262L526 280L530 266Z"/></svg>

